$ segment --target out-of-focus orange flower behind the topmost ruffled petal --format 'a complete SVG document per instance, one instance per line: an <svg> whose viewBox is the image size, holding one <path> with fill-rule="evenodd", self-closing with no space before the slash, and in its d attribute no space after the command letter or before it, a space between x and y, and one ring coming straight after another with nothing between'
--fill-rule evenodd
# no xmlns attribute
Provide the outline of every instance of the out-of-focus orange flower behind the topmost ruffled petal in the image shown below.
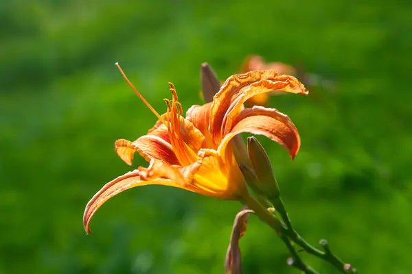
<svg viewBox="0 0 412 274"><path fill-rule="evenodd" d="M273 70L279 74L296 75L296 70L293 66L284 64L282 62L265 62L260 55L252 55L244 60L240 73L247 73L248 71L266 71ZM273 90L273 92L261 93L255 95L247 101L250 105L265 105L270 95L277 95L281 93L279 90Z"/></svg>

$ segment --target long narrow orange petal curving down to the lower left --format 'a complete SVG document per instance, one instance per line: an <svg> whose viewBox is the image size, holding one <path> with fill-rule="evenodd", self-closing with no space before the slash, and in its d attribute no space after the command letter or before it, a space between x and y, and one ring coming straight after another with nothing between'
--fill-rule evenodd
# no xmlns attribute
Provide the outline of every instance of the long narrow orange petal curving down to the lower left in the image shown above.
<svg viewBox="0 0 412 274"><path fill-rule="evenodd" d="M194 191L190 186L186 187L185 184L182 184L181 182L174 182L173 178L177 181L183 179L183 177L168 164L154 160L150 163L148 169L139 168L138 170L130 171L113 179L113 181L108 182L93 196L84 210L83 225L87 234L91 232L89 228L91 217L95 214L98 208L100 208L100 206L102 206L108 199L124 190L136 186L162 185Z"/></svg>

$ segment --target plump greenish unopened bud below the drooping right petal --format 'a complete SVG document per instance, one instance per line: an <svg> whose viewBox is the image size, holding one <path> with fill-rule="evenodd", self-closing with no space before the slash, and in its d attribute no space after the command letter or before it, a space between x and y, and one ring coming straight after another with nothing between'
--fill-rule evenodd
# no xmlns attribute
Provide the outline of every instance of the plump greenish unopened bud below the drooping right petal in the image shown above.
<svg viewBox="0 0 412 274"><path fill-rule="evenodd" d="M249 160L258 177L258 188L260 189L260 192L264 193L269 199L277 199L280 195L279 186L273 175L273 169L268 154L262 145L260 145L258 139L255 137L247 138L247 151Z"/></svg>

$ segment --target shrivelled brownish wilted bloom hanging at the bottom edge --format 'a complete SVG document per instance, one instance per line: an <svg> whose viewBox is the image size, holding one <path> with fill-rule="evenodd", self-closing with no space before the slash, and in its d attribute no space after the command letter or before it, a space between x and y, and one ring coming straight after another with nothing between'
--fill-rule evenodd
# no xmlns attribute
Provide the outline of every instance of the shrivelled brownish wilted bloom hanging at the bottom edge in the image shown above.
<svg viewBox="0 0 412 274"><path fill-rule="evenodd" d="M246 232L249 213L255 213L248 210L246 206L236 215L233 229L230 236L229 247L226 253L225 273L240 274L242 273L242 261L240 256L239 240Z"/></svg>

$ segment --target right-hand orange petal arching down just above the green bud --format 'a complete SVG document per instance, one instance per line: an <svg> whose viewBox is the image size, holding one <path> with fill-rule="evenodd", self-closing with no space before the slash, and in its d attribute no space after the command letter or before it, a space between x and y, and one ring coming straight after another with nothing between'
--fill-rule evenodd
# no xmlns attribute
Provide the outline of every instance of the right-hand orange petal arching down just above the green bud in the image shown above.
<svg viewBox="0 0 412 274"><path fill-rule="evenodd" d="M233 127L219 145L219 154L225 157L227 145L233 136L242 132L264 135L282 145L292 160L299 151L300 136L289 117L273 108L254 106L242 110L233 121Z"/></svg>

